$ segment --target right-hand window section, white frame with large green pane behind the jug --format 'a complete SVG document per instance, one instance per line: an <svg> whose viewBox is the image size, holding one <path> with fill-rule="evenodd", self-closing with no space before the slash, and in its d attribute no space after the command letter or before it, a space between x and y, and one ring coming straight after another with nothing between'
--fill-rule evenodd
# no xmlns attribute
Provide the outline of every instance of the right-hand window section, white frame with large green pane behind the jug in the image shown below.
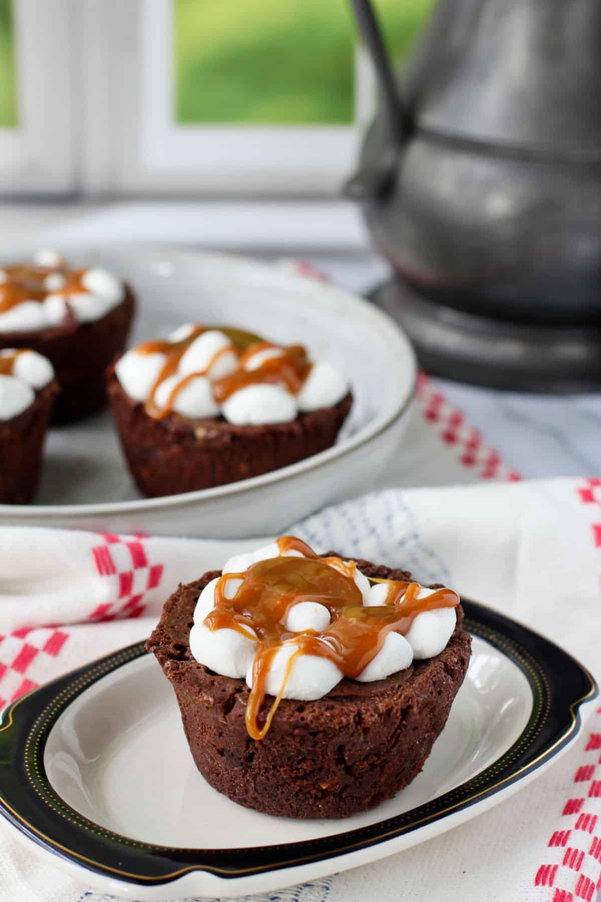
<svg viewBox="0 0 601 902"><path fill-rule="evenodd" d="M402 56L433 0L376 4ZM186 197L338 193L375 99L349 0L121 6L112 24L98 15L91 32L105 29L105 52L96 54L96 76L84 82L105 78L111 97L87 136L93 189Z"/></svg>

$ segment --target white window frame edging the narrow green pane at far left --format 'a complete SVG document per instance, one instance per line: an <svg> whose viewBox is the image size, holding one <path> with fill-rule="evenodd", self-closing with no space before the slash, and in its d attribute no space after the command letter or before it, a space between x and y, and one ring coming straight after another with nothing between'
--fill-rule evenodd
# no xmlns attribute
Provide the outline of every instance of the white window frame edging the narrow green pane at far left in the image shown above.
<svg viewBox="0 0 601 902"><path fill-rule="evenodd" d="M74 187L68 0L13 0L18 123L0 128L0 193Z"/></svg>

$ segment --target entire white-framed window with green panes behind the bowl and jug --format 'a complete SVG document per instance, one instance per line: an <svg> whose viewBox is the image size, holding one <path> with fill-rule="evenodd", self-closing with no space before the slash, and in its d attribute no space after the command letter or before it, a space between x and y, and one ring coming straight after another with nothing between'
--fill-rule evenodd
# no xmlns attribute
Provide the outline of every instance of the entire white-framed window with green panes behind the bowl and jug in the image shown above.
<svg viewBox="0 0 601 902"><path fill-rule="evenodd" d="M0 0L3 194L332 196L374 106L349 0Z"/></svg>

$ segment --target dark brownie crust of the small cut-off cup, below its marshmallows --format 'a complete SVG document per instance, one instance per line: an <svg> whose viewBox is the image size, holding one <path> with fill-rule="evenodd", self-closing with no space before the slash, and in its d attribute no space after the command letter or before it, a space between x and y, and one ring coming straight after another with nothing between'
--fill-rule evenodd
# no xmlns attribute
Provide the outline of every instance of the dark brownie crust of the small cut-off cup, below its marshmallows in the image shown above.
<svg viewBox="0 0 601 902"><path fill-rule="evenodd" d="M0 503L28 504L40 482L44 438L59 386L50 382L23 413L0 422Z"/></svg>

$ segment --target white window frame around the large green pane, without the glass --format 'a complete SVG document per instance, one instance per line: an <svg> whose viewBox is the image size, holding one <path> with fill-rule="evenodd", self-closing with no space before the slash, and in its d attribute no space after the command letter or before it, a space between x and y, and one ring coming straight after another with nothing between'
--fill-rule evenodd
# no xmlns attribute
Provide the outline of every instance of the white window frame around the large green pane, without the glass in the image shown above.
<svg viewBox="0 0 601 902"><path fill-rule="evenodd" d="M178 125L172 107L172 27L171 0L84 5L82 185L87 194L338 194L354 169L362 126L373 110L365 58L358 54L351 125Z"/></svg>

